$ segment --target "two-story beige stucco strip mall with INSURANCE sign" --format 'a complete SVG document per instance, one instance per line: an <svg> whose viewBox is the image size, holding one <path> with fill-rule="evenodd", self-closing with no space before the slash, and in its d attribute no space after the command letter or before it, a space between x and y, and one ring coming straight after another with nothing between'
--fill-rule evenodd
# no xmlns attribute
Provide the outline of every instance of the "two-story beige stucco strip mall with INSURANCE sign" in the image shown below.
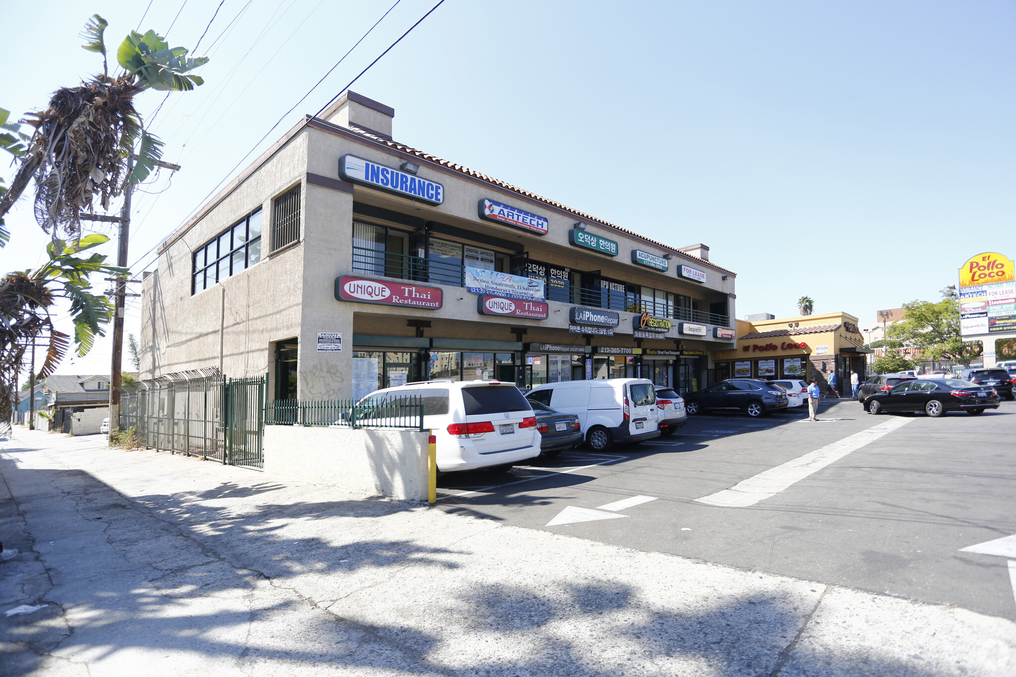
<svg viewBox="0 0 1016 677"><path fill-rule="evenodd" d="M141 378L268 374L278 399L439 378L641 375L685 391L735 346L735 274L707 247L396 143L393 117L346 92L161 245Z"/></svg>

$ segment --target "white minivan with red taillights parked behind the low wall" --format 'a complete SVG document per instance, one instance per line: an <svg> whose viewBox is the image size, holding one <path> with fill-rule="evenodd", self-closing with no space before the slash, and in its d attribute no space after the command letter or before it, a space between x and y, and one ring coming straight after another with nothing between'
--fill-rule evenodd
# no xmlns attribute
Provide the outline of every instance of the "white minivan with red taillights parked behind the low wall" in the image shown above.
<svg viewBox="0 0 1016 677"><path fill-rule="evenodd" d="M385 388L357 403L360 422L370 426L372 411L420 398L424 428L436 437L438 470L506 470L539 456L536 414L513 384L497 381L427 381ZM383 414L382 414L383 415Z"/></svg>

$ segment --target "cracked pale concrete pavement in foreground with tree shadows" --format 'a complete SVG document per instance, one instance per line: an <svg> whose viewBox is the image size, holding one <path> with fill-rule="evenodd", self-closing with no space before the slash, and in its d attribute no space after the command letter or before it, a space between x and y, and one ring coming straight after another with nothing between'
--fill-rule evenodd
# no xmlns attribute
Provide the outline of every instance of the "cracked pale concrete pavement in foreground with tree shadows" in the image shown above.
<svg viewBox="0 0 1016 677"><path fill-rule="evenodd" d="M1016 674L1008 619L14 434L4 675Z"/></svg>

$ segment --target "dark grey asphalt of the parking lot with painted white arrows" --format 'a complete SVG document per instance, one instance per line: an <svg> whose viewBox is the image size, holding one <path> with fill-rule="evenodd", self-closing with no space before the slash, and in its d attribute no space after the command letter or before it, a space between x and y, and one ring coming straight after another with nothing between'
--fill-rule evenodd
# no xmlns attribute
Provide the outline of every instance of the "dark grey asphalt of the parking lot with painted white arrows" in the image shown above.
<svg viewBox="0 0 1016 677"><path fill-rule="evenodd" d="M1016 617L1008 558L961 552L1016 534L1016 403L976 417L957 412L933 419L873 416L843 399L823 402L821 421L806 418L803 408L761 419L701 415L670 437L609 454L579 449L509 473L452 473L438 480L438 504L645 551ZM816 450L832 460L806 458L804 472L783 466ZM760 473L766 474L753 483L773 490L754 504L696 501Z"/></svg>

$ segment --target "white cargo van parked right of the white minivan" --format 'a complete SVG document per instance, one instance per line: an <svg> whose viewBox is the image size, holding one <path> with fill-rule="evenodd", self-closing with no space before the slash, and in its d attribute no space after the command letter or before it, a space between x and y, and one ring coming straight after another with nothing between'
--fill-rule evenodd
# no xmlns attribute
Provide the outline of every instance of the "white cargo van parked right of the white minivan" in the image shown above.
<svg viewBox="0 0 1016 677"><path fill-rule="evenodd" d="M659 436L656 388L648 379L562 381L536 386L526 398L564 414L575 414L590 449Z"/></svg>

